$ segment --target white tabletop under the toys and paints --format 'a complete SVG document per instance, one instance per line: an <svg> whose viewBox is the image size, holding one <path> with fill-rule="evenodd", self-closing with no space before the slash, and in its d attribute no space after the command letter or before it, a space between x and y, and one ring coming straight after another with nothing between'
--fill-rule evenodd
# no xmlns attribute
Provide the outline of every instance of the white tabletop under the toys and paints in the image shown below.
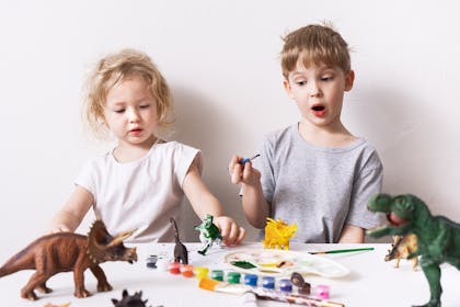
<svg viewBox="0 0 460 307"><path fill-rule="evenodd" d="M214 247L207 255L203 257L196 251L200 243L185 243L189 251L189 264L214 269L229 269L223 263L223 257L237 250L261 248L262 243L243 243L235 248L219 249ZM142 298L148 299L148 306L241 306L241 297L223 293L204 291L198 287L194 277L173 275L146 266L146 259L150 254L160 254L172 258L173 243L151 243L138 246L138 262L106 262L102 268L108 282L114 287L107 293L97 293L96 281L88 270L85 272L85 286L93 295L88 298L76 298L73 294L73 277L71 273L60 273L53 276L47 285L54 289L50 294L37 293L39 299L30 302L20 297L20 289L28 281L32 271L21 271L0 278L0 305L8 307L44 306L46 303L61 305L70 302L71 307L113 306L111 298L120 299L122 291L126 288L129 294L142 291ZM325 278L314 275L306 276L312 285L326 284L331 287L332 302L343 303L349 307L360 306L412 306L425 304L429 297L428 284L423 272L413 272L407 261L401 261L401 268L394 269L392 263L384 262L389 245L300 245L292 243L294 251L318 251L330 249L347 249L373 247L372 251L327 254L345 266L352 273L342 278ZM4 249L4 247L3 247ZM13 253L13 252L12 252ZM5 259L1 259L4 262ZM460 306L459 281L460 272L444 264L441 285L444 288L442 306ZM287 306L288 304L257 300L257 306Z"/></svg>

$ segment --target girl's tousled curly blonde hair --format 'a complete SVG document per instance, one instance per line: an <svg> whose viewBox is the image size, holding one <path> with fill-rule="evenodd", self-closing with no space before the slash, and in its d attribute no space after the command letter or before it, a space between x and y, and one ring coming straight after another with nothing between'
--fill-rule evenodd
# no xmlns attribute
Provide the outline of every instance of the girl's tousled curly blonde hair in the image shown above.
<svg viewBox="0 0 460 307"><path fill-rule="evenodd" d="M106 130L104 107L108 91L130 77L140 77L147 82L157 102L159 127L171 123L172 94L166 80L147 54L136 49L123 49L99 60L88 79L83 116L97 137L102 137Z"/></svg>

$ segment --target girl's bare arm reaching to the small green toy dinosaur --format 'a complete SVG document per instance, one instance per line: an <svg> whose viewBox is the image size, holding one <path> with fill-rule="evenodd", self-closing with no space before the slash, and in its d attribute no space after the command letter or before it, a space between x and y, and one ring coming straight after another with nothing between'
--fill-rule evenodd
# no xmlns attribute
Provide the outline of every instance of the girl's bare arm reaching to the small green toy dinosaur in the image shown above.
<svg viewBox="0 0 460 307"><path fill-rule="evenodd" d="M214 216L214 223L219 227L226 245L237 245L244 239L244 228L227 216L222 216L220 202L210 193L203 181L196 160L194 160L185 174L183 190L193 209L203 220L207 214Z"/></svg>

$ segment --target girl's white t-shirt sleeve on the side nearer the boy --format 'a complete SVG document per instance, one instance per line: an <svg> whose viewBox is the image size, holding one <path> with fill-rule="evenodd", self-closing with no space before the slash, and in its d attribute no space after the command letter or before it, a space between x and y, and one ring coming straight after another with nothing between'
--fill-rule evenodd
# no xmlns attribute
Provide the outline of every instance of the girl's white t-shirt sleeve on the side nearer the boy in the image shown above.
<svg viewBox="0 0 460 307"><path fill-rule="evenodd" d="M184 144L176 144L173 157L174 173L177 178L181 187L184 184L185 175L192 166L192 162L196 159L196 166L198 167L199 174L203 173L203 154L199 149L193 148Z"/></svg>

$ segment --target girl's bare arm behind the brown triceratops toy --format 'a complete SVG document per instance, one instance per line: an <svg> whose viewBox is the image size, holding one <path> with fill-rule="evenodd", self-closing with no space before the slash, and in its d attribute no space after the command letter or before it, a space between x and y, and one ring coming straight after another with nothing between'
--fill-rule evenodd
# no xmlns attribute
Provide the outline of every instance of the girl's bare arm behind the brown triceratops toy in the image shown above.
<svg viewBox="0 0 460 307"><path fill-rule="evenodd" d="M93 195L77 185L64 207L55 215L48 227L49 232L73 232L93 204Z"/></svg>

